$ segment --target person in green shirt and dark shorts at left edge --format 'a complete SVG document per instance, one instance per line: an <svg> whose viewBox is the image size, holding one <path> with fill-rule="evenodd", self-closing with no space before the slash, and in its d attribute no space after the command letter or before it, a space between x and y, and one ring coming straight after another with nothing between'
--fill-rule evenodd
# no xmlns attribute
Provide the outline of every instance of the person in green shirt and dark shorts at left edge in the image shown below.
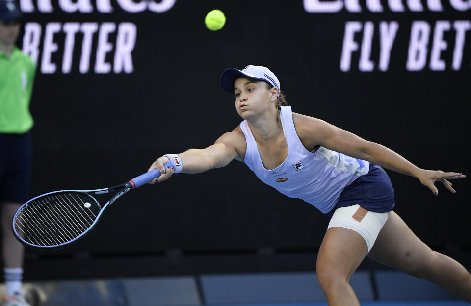
<svg viewBox="0 0 471 306"><path fill-rule="evenodd" d="M31 133L29 102L35 64L15 46L22 12L13 0L0 0L0 207L2 257L6 292L3 306L29 306L22 291L24 248L11 223L28 200Z"/></svg>

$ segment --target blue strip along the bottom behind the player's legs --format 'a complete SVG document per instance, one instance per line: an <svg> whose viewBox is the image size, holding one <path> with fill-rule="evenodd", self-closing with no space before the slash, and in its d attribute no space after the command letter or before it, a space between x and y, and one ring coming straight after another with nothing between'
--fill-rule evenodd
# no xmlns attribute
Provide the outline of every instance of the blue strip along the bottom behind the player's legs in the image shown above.
<svg viewBox="0 0 471 306"><path fill-rule="evenodd" d="M373 280L373 281L372 281ZM357 271L362 306L464 306L440 287L400 272ZM26 283L32 306L327 306L315 273L212 274Z"/></svg>

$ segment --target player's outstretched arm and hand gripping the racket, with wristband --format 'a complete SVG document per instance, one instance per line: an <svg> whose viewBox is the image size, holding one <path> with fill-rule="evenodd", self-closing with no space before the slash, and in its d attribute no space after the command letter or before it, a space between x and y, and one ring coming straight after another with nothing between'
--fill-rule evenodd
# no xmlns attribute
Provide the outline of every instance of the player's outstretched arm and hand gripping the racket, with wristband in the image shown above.
<svg viewBox="0 0 471 306"><path fill-rule="evenodd" d="M201 173L209 169L224 167L233 159L242 159L239 152L243 150L243 147L245 147L245 138L241 138L241 135L236 130L225 133L213 145L207 148L189 149L178 154L182 164L181 172ZM245 150L243 151L245 153ZM168 168L164 170L163 167L169 160L170 157L162 156L152 163L148 172L157 168L161 175L151 181L151 184L164 181L172 176L175 169Z"/></svg>

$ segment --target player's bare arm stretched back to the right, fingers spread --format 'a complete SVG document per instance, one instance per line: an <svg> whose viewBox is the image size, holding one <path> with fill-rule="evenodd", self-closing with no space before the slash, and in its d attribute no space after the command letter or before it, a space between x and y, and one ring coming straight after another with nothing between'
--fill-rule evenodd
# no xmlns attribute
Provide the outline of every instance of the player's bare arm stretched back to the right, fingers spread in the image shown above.
<svg viewBox="0 0 471 306"><path fill-rule="evenodd" d="M434 185L435 181L441 181L449 191L455 193L456 191L447 179L466 178L456 172L420 169L391 149L367 141L323 120L300 114L293 114L293 119L296 131L304 144L308 144L310 147L321 145L354 158L367 160L383 168L413 176L430 188L435 195L438 194L437 187Z"/></svg>

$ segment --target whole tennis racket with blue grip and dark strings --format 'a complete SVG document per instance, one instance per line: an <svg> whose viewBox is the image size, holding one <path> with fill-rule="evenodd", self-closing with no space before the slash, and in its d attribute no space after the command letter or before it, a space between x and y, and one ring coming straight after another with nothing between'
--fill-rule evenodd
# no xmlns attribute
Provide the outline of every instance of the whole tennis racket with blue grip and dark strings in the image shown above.
<svg viewBox="0 0 471 306"><path fill-rule="evenodd" d="M167 162L164 167L172 167ZM158 169L124 184L94 190L60 190L23 204L13 217L13 233L28 247L54 249L77 241L97 224L105 209L128 191L158 178ZM92 196L116 192L103 207Z"/></svg>

